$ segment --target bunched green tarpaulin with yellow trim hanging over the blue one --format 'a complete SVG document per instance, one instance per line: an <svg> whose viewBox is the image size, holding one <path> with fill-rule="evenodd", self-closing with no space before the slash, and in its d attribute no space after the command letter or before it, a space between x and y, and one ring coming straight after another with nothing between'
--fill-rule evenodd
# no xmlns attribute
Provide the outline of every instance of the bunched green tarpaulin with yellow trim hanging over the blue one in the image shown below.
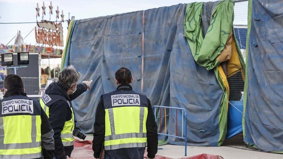
<svg viewBox="0 0 283 159"><path fill-rule="evenodd" d="M185 37L189 43L192 55L195 61L207 70L213 69L215 76L223 89L223 97L219 110L219 139L218 146L222 145L227 133L227 113L228 113L228 97L229 97L229 84L226 74L232 75L240 69L233 71L229 69L224 73L221 67L221 62L230 60L230 63L236 63L238 67L243 67L240 61L243 61L237 42L234 40L236 37L232 33L233 18L234 18L234 1L226 0L220 1L213 9L210 26L203 36L201 28L201 16L203 11L203 3L195 2L187 4L187 11L185 14ZM229 44L228 44L229 43ZM233 50L233 45L234 50ZM235 48L237 48L235 50ZM226 54L225 52L230 52ZM230 50L230 51L229 51ZM237 56L238 55L238 56ZM231 61L233 57L237 56L237 61ZM243 63L243 62L242 62ZM229 66L229 64L228 64ZM230 71L230 72L229 72ZM232 72L231 72L232 71Z"/></svg>

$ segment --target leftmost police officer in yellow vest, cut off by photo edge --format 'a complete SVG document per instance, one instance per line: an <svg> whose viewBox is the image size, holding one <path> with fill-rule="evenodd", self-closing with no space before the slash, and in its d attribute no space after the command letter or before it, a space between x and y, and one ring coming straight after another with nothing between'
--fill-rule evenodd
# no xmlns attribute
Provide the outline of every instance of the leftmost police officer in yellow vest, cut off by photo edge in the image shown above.
<svg viewBox="0 0 283 159"><path fill-rule="evenodd" d="M53 130L40 104L24 92L22 78L4 79L0 100L0 158L53 158Z"/></svg>

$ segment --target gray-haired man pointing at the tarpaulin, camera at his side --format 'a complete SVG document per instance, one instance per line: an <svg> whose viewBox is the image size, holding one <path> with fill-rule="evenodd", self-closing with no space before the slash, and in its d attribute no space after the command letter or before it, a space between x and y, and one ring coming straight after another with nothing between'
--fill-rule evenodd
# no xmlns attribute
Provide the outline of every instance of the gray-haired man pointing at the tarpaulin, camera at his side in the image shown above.
<svg viewBox="0 0 283 159"><path fill-rule="evenodd" d="M51 83L40 99L40 105L54 130L54 158L57 159L70 157L74 149L74 112L70 101L90 89L92 82L77 84L80 77L80 72L73 65L64 68L59 73L58 81Z"/></svg>

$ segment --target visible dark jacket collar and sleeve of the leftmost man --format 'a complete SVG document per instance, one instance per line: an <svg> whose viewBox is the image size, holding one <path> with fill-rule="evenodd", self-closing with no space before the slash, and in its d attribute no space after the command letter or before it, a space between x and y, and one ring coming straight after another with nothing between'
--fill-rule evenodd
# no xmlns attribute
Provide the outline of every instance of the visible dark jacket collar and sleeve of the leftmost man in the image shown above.
<svg viewBox="0 0 283 159"><path fill-rule="evenodd" d="M27 96L27 94L24 93L23 89L11 88L5 93L4 98L10 97L10 96L16 96L16 95ZM33 102L37 102L37 101L34 100ZM40 107L40 104L38 102L37 102L37 105ZM40 129L41 129L42 153L45 159L52 159L53 153L54 153L54 139L53 139L54 132L48 122L48 117L42 108L41 108L40 117L41 117L41 128Z"/></svg>

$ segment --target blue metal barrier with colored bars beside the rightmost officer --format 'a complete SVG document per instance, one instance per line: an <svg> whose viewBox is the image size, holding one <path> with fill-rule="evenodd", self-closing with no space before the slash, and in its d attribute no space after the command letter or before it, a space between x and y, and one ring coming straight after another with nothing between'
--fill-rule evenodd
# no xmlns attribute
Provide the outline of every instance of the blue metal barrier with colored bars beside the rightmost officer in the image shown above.
<svg viewBox="0 0 283 159"><path fill-rule="evenodd" d="M155 116L155 120L157 119L156 116L156 108L164 108L164 114L165 114L165 133L166 133L166 109L176 109L176 135L169 135L169 134L163 134L161 133L161 109L159 110L160 112L160 116L159 116L159 130L160 132L158 132L159 135L165 135L165 136L170 136L170 137L174 137L174 138L180 138L180 139L184 139L185 140L185 156L187 156L187 112L184 108L177 108L177 107L165 107L165 106L157 106L154 105L152 108L154 108L154 116ZM178 126L178 118L177 118L177 110L182 110L182 137L181 136L177 136L178 135L178 131L177 131L177 126ZM183 134L183 130L184 130L184 112L185 112L185 135ZM185 137L184 137L185 136Z"/></svg>

